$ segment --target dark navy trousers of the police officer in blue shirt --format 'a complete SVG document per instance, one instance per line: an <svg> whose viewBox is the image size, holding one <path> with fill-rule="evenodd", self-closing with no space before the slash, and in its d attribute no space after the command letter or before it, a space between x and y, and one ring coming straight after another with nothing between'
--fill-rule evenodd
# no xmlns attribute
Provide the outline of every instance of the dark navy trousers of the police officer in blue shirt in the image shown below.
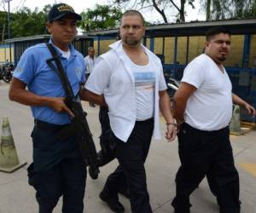
<svg viewBox="0 0 256 213"><path fill-rule="evenodd" d="M52 212L62 195L62 212L82 213L86 166L78 139L56 140L58 128L52 124L44 124L43 129L35 125L32 131L33 164L28 168L29 183L37 191L39 213Z"/></svg>

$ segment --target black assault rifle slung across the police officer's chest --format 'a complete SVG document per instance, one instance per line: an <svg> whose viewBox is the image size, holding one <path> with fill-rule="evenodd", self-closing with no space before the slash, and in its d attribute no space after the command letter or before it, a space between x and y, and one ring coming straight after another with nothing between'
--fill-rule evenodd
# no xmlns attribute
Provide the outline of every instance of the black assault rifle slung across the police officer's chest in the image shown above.
<svg viewBox="0 0 256 213"><path fill-rule="evenodd" d="M61 64L60 56L57 55L55 48L50 43L46 43L46 45L53 56L49 60L46 60L46 62L59 75L66 94L65 103L74 114L71 124L61 129L58 133L58 137L65 139L71 135L79 135L79 147L84 163L90 165L90 172L93 175L91 177L96 179L100 170L97 164L96 147L86 119L87 113L84 112L81 102L78 101L78 98L73 94L73 89ZM55 61L56 66L52 61Z"/></svg>

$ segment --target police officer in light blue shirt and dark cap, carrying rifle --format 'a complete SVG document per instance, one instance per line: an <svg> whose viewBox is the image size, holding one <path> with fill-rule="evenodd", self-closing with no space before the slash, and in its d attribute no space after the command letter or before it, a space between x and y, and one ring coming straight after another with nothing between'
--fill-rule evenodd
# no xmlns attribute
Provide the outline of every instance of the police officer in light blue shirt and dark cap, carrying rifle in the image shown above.
<svg viewBox="0 0 256 213"><path fill-rule="evenodd" d="M71 44L77 34L77 20L81 16L72 7L59 3L49 10L46 24L51 34L49 43L61 56L74 95L85 80L84 57ZM82 213L86 167L78 147L79 136L58 138L73 112L63 101L65 92L59 76L46 63L51 57L45 43L26 49L15 69L9 99L32 108L33 164L28 175L37 191L39 213L52 212L61 196L62 212Z"/></svg>

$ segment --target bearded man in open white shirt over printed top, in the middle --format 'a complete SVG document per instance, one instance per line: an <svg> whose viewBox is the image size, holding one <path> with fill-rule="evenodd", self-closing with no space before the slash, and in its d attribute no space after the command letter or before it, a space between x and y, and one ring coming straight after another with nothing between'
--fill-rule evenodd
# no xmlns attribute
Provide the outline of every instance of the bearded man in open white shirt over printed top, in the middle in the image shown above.
<svg viewBox="0 0 256 213"><path fill-rule="evenodd" d="M146 183L145 160L151 137L160 139L160 118L166 119L166 139L176 135L171 104L160 59L141 44L145 27L143 15L136 10L123 14L119 27L121 40L101 55L81 92L82 98L108 106L118 168L108 176L100 193L114 212L125 209L118 189L130 191L132 213L152 213Z"/></svg>

